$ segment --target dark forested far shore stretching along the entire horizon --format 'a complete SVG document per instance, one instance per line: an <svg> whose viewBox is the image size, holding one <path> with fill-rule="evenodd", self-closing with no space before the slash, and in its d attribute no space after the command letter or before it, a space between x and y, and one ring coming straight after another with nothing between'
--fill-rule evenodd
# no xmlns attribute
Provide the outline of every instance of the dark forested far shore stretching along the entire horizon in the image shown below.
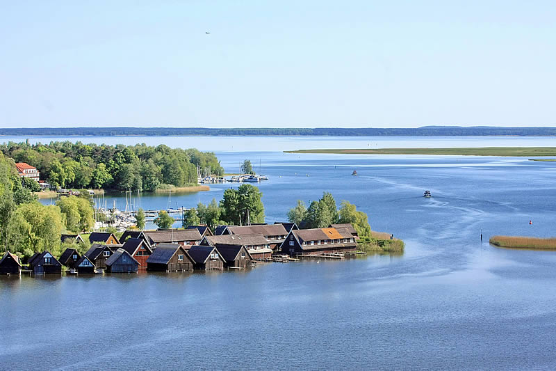
<svg viewBox="0 0 556 371"><path fill-rule="evenodd" d="M556 136L556 127L424 126L412 128L28 127L2 136Z"/></svg>

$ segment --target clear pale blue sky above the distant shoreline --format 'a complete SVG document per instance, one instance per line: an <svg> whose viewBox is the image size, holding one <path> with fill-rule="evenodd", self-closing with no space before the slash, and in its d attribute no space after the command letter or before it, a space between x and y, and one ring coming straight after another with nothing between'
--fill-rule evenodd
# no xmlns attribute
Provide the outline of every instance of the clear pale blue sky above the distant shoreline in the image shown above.
<svg viewBox="0 0 556 371"><path fill-rule="evenodd" d="M552 0L0 0L0 127L556 126L555 68Z"/></svg>

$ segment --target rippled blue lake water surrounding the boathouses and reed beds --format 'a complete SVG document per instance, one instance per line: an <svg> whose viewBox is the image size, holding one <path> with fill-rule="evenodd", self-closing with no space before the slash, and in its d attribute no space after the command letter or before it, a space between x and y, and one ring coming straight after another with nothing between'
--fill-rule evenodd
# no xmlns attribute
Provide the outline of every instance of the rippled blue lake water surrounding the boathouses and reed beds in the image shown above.
<svg viewBox="0 0 556 371"><path fill-rule="evenodd" d="M368 213L374 230L404 239L405 253L207 274L0 278L0 369L554 368L556 252L488 239L555 235L556 163L204 149L229 172L260 160L269 222L330 191ZM227 187L172 202L219 200ZM167 195L139 203L165 208Z"/></svg>

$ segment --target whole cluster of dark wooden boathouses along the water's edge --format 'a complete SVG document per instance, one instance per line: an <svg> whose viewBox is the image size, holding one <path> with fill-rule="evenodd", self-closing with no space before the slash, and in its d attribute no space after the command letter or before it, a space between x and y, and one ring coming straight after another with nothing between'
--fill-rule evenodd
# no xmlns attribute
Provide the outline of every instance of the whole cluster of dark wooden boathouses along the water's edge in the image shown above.
<svg viewBox="0 0 556 371"><path fill-rule="evenodd" d="M66 238L81 238L79 235ZM252 267L257 260L273 255L291 257L341 254L355 251L357 231L351 224L328 228L299 229L295 223L255 226L220 226L213 234L206 226L186 230L127 230L121 237L95 232L91 247L83 255L67 248L57 260L49 251L35 253L24 269L17 255L6 253L0 274L93 274L147 271L192 271L194 269L237 269Z"/></svg>

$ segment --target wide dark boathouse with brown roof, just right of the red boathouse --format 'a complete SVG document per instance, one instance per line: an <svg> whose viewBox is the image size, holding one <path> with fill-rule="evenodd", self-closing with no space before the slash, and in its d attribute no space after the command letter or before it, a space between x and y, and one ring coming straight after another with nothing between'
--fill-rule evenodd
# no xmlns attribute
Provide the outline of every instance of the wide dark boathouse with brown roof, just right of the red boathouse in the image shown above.
<svg viewBox="0 0 556 371"><path fill-rule="evenodd" d="M149 271L193 271L195 262L180 244L158 244L147 259Z"/></svg>

